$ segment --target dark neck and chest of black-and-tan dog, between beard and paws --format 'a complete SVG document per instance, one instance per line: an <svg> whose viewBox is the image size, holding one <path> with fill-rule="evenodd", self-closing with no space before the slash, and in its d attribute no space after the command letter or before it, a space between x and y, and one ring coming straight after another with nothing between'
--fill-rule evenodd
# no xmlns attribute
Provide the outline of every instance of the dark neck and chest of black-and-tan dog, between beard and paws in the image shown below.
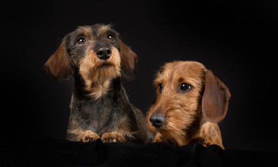
<svg viewBox="0 0 278 167"><path fill-rule="evenodd" d="M108 123L110 116L121 116L123 107L131 107L120 77L111 79L108 92L97 99L88 95L80 79L76 78L75 82L70 121L75 119L85 129L101 134L106 130L104 123Z"/></svg>

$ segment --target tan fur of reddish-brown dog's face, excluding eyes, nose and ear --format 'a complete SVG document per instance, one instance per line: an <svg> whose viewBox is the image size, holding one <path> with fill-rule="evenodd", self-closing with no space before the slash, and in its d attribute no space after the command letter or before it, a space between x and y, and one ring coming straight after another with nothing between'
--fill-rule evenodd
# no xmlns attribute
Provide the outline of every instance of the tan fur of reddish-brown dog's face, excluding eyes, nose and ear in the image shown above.
<svg viewBox="0 0 278 167"><path fill-rule="evenodd" d="M149 128L160 132L166 138L174 138L179 145L188 144L186 129L190 128L201 112L199 103L206 68L197 62L174 61L165 64L162 69L154 79L156 102L147 112L146 120L149 121L153 113L163 113L163 125L154 128L148 122ZM190 84L192 88L187 93L181 93L179 87L182 83ZM158 84L163 85L161 93Z"/></svg>

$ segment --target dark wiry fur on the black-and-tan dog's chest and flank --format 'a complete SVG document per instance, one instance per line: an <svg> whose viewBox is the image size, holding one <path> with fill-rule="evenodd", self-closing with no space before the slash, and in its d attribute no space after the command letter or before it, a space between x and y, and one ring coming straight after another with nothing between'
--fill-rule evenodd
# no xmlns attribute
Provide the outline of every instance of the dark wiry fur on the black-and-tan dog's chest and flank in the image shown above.
<svg viewBox="0 0 278 167"><path fill-rule="evenodd" d="M141 111L130 104L120 77L113 79L110 90L105 96L95 100L84 94L81 79L76 78L75 81L79 81L79 84L77 82L75 84L70 103L70 122L77 120L83 129L90 129L101 136L105 132L113 132L117 127L117 121L126 118L125 124L130 131L138 132L135 138L129 138L128 141L145 143L147 134L144 118ZM67 139L72 140L75 137L73 134L68 134Z"/></svg>

